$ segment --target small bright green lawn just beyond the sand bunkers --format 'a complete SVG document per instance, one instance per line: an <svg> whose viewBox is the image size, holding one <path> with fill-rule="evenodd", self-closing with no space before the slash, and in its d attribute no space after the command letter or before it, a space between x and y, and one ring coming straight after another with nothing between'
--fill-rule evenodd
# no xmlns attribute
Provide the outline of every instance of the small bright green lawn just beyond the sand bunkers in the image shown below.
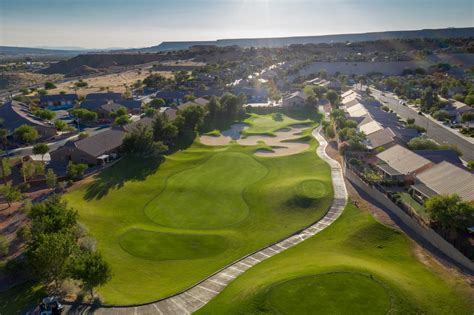
<svg viewBox="0 0 474 315"><path fill-rule="evenodd" d="M254 134L272 135L275 131L278 131L279 129L286 128L291 125L312 123L312 121L309 119L297 120L297 119L290 118L286 115L282 115L281 120L275 120L274 114L268 114L268 115L251 114L249 118L244 120L244 122L249 124L249 127L245 129L243 132L243 134L247 136L254 135Z"/></svg>

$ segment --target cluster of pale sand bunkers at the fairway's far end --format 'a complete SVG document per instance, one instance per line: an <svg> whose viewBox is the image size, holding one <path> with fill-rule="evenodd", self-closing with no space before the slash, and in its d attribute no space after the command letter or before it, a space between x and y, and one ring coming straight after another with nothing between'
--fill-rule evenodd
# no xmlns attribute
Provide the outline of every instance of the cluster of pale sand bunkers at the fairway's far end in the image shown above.
<svg viewBox="0 0 474 315"><path fill-rule="evenodd" d="M247 138L241 137L241 132L246 128L245 124L232 125L231 129L222 132L218 137L201 136L199 140L205 145L227 145L231 140L236 140L240 145L258 145L265 143L271 150L257 150L257 156L286 156L298 154L309 148L309 144L303 142L291 142L301 136L301 131L308 128L307 125L293 125L282 128L275 132L275 137L269 135L253 135Z"/></svg>

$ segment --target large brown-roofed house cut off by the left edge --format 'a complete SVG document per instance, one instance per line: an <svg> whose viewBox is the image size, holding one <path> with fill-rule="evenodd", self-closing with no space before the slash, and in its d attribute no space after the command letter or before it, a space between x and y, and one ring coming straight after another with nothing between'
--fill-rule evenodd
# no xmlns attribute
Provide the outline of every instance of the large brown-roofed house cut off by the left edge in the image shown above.
<svg viewBox="0 0 474 315"><path fill-rule="evenodd" d="M0 106L0 118L0 128L6 129L8 135L12 135L15 129L22 125L35 127L43 139L57 134L52 124L33 116L28 105L17 101L10 101Z"/></svg>

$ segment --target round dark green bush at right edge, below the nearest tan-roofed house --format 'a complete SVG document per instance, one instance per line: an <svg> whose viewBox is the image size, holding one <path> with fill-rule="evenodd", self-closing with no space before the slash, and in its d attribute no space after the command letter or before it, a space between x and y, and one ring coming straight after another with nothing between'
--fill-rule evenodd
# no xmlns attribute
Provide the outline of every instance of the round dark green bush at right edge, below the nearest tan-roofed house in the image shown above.
<svg viewBox="0 0 474 315"><path fill-rule="evenodd" d="M425 201L425 208L431 219L447 231L465 231L474 222L474 205L455 194L433 196Z"/></svg>

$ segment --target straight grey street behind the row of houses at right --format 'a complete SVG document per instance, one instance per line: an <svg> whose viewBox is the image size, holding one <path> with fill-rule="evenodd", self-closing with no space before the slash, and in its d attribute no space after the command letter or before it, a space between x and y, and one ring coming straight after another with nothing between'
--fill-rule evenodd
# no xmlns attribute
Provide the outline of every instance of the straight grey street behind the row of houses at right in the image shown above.
<svg viewBox="0 0 474 315"><path fill-rule="evenodd" d="M470 141L462 138L451 130L448 130L444 126L440 126L438 123L432 121L428 117L418 115L418 112L408 106L399 104L398 98L385 94L383 96L380 91L371 89L372 95L382 101L395 113L397 113L403 119L413 118L415 123L426 129L428 137L432 138L440 144L454 144L463 153L462 159L465 161L474 160L474 144Z"/></svg>

